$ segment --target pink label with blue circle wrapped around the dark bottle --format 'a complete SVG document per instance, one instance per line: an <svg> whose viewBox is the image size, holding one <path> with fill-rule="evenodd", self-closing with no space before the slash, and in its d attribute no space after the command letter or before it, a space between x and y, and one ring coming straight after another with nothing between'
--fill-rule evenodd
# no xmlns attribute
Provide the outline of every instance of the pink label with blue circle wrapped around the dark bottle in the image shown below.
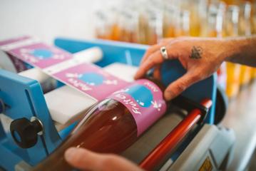
<svg viewBox="0 0 256 171"><path fill-rule="evenodd" d="M141 79L116 91L109 98L128 108L137 124L138 136L166 111L163 92L152 81Z"/></svg>

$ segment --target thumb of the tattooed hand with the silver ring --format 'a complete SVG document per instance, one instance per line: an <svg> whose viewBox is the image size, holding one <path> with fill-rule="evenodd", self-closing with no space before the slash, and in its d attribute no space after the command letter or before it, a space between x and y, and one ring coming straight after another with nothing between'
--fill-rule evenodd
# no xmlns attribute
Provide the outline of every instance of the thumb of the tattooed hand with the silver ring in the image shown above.
<svg viewBox="0 0 256 171"><path fill-rule="evenodd" d="M173 83L170 83L168 88L165 89L165 100L171 100L175 98L186 88L200 80L200 76L196 75L195 73L185 73L184 76L178 78L178 80L174 81Z"/></svg>

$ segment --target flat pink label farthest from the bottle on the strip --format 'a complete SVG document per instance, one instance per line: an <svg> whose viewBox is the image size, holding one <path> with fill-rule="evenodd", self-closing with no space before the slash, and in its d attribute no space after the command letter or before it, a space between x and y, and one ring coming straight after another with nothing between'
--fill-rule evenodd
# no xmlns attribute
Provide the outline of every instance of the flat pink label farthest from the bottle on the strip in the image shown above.
<svg viewBox="0 0 256 171"><path fill-rule="evenodd" d="M8 51L8 53L39 68L53 66L72 58L71 53L44 43L14 48Z"/></svg>

